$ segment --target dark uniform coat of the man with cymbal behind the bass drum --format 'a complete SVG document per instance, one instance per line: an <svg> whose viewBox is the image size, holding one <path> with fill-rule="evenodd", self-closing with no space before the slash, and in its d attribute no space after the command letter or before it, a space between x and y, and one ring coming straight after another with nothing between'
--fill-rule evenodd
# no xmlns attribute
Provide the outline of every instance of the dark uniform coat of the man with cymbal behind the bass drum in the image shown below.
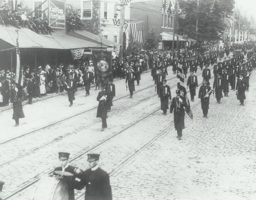
<svg viewBox="0 0 256 200"><path fill-rule="evenodd" d="M76 179L75 170L76 170L76 167L73 167L71 165L68 165L68 167L64 169L65 172L70 172L74 175L74 176L63 176L64 181L68 183L69 200L75 200L74 188L76 188L76 185L78 184L78 182L75 180ZM62 171L62 167L57 167L54 169L54 171ZM54 172L53 174L57 175Z"/></svg>

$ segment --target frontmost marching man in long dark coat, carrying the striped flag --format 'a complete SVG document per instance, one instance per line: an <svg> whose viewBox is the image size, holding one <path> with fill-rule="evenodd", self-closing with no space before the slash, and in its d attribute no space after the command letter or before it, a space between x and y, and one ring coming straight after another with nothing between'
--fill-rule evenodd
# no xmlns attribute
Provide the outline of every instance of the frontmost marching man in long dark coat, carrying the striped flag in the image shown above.
<svg viewBox="0 0 256 200"><path fill-rule="evenodd" d="M181 140L182 129L185 128L185 110L184 105L186 104L186 99L180 96L180 90L176 90L176 97L172 98L172 103L170 106L170 114L174 113L174 127L177 130L178 140Z"/></svg>

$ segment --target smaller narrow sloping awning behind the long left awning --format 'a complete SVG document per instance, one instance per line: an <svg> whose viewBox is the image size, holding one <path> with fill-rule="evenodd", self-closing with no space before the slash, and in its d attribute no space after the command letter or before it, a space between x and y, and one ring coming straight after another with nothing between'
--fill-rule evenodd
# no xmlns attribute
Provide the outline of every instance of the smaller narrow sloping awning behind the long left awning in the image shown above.
<svg viewBox="0 0 256 200"><path fill-rule="evenodd" d="M78 37L80 39L86 39L88 41L96 42L98 44L102 43L103 45L106 45L108 47L114 47L115 45L120 45L118 43L112 42L105 38L100 39L99 35L95 35L93 33L90 33L88 31L84 31L84 30L75 30L74 32L69 31L68 35L71 35L73 37Z"/></svg>

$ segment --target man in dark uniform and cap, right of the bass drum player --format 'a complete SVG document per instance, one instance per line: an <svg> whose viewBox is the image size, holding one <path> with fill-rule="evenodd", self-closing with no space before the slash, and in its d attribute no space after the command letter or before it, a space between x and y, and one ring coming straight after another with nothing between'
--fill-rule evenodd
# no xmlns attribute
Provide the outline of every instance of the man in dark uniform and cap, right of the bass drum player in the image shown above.
<svg viewBox="0 0 256 200"><path fill-rule="evenodd" d="M100 154L90 153L87 155L90 169L82 173L77 189L81 190L84 186L86 187L85 200L112 200L109 175L98 165Z"/></svg>

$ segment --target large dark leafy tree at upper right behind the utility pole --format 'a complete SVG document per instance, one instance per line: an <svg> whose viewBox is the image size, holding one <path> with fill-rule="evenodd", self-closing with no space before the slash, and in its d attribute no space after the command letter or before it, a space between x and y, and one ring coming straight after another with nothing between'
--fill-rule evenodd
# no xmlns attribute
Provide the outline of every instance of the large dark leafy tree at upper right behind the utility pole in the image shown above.
<svg viewBox="0 0 256 200"><path fill-rule="evenodd" d="M219 40L225 30L224 18L230 18L234 0L179 0L185 19L180 21L179 31L188 37L196 38L196 19L198 17L198 41ZM198 9L198 10L197 10Z"/></svg>

